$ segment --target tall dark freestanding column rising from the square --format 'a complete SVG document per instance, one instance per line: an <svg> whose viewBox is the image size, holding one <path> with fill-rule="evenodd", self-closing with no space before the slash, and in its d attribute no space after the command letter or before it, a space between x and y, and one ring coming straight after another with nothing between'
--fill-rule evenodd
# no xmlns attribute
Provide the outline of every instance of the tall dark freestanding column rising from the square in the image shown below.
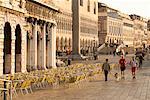
<svg viewBox="0 0 150 100"><path fill-rule="evenodd" d="M80 59L80 1L72 0L73 11L73 33L72 33L72 50L73 59Z"/></svg>

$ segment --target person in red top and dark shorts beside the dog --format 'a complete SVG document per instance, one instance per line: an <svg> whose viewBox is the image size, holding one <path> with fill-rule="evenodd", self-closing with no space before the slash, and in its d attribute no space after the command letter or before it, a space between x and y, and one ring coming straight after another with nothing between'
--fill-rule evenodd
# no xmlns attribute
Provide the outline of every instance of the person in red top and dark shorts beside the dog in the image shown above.
<svg viewBox="0 0 150 100"><path fill-rule="evenodd" d="M120 65L120 70L121 70L121 78L124 79L124 71L126 69L125 66L126 60L125 58L122 56L121 59L119 60L119 65Z"/></svg>

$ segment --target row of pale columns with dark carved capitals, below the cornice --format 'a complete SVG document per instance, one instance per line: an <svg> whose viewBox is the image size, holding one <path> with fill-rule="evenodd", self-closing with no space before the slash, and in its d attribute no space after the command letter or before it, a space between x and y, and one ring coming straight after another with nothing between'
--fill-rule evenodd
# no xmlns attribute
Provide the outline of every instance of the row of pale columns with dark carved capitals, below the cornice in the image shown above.
<svg viewBox="0 0 150 100"><path fill-rule="evenodd" d="M27 18L27 70L56 67L56 23Z"/></svg>

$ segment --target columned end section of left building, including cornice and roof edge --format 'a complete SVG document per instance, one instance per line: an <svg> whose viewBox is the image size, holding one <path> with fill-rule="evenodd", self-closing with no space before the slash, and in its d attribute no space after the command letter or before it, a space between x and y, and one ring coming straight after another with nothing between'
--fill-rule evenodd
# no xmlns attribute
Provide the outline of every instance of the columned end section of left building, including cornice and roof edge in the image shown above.
<svg viewBox="0 0 150 100"><path fill-rule="evenodd" d="M56 26L58 9L44 2L26 1L27 69L56 67Z"/></svg>

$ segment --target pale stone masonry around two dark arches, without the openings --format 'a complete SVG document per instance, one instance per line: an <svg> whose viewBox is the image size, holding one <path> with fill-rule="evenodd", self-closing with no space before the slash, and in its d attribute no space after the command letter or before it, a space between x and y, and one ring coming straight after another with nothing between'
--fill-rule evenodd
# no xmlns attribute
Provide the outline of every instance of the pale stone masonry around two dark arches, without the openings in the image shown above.
<svg viewBox="0 0 150 100"><path fill-rule="evenodd" d="M11 71L7 70L7 73L15 73L15 29L16 26L19 25L21 28L21 55L20 55L20 62L19 64L21 65L21 71L25 72L26 71L26 56L25 56L25 51L26 51L26 38L25 38L25 19L24 19L24 3L25 1L22 0L22 3L20 4L19 1L14 1L10 2L9 0L0 0L1 2L1 7L0 7L0 75L3 74L3 56L4 56L4 27L6 23L9 23L11 26L11 55L7 55L5 57L5 62L10 63L10 64L5 64L5 68L9 70L8 67L10 67ZM21 23L21 24L20 24ZM6 29L7 30L7 29ZM8 60L8 59L10 60ZM7 66L9 65L9 66Z"/></svg>

